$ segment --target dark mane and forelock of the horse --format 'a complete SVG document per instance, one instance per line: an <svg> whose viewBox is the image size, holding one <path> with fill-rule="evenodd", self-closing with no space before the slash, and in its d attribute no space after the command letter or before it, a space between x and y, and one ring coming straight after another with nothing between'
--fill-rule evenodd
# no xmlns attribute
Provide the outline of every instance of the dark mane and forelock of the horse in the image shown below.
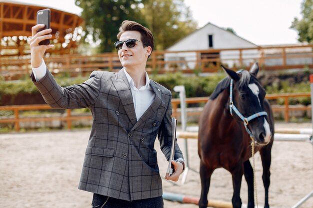
<svg viewBox="0 0 313 208"><path fill-rule="evenodd" d="M238 88L242 89L247 87L247 85L250 82L250 78L252 77L250 73L246 70L240 70L237 72L237 74L240 74L240 80L238 82ZM223 78L221 81L218 82L217 86L215 87L214 91L212 92L210 99L214 100L224 89L229 88L230 85L230 77L227 76Z"/></svg>

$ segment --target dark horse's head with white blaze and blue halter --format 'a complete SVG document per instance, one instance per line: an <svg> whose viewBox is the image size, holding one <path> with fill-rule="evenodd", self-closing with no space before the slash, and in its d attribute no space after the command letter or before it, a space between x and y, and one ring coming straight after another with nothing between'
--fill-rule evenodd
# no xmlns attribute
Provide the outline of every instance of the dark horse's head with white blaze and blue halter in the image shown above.
<svg viewBox="0 0 313 208"><path fill-rule="evenodd" d="M249 72L240 70L234 72L222 66L230 77L229 110L234 119L243 125L254 139L263 146L270 142L271 131L264 110L265 90L256 79L259 67L254 63Z"/></svg>

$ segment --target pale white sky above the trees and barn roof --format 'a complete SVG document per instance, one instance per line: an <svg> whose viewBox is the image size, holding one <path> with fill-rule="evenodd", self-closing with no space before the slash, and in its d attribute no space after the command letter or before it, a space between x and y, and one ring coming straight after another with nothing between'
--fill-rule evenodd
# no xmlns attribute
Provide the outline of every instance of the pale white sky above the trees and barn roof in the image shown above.
<svg viewBox="0 0 313 208"><path fill-rule="evenodd" d="M79 14L74 0L12 0L46 5ZM184 0L192 17L202 27L208 22L231 27L238 36L257 45L297 43L290 29L294 17L302 18L303 0Z"/></svg>

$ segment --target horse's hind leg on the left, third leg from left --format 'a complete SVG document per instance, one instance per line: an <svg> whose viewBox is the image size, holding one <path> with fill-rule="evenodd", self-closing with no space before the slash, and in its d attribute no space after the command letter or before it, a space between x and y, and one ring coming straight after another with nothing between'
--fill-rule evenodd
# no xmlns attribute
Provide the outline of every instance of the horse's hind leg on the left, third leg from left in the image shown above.
<svg viewBox="0 0 313 208"><path fill-rule="evenodd" d="M243 163L244 178L248 186L248 205L247 208L254 208L254 184L253 184L253 169L250 161L247 160Z"/></svg>

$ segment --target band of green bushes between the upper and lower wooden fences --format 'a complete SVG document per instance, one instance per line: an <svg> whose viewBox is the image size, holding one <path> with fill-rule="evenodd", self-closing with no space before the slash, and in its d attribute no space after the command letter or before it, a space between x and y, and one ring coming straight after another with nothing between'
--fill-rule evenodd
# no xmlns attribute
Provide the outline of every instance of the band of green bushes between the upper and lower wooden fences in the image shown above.
<svg viewBox="0 0 313 208"><path fill-rule="evenodd" d="M173 91L174 86L183 85L186 91L186 97L204 97L209 96L215 89L217 83L226 76L224 72L212 73L207 76L199 76L198 74L185 75L180 72L149 75L150 79L158 82L172 92L173 98L178 98L179 94ZM273 77L272 75L270 77ZM291 76L292 77L292 76ZM293 93L293 92L310 92L310 85L308 81L296 83L294 81L283 80L283 77L277 75L276 81L264 82L268 77L260 76L260 82L263 81L267 94L272 93ZM72 84L82 83L88 77L70 78L66 75L58 75L55 77L56 81L61 86L68 86ZM289 76L290 79L290 76ZM277 80L279 80L277 82ZM2 99L3 98L3 99ZM4 102L5 98L5 102ZM19 102L16 103L16 100ZM28 102L26 102L28 101ZM26 103L20 103L26 102ZM277 104L283 104L283 99L277 100ZM3 104L4 103L4 104ZM9 104L7 104L9 103ZM19 81L1 81L0 82L0 105L13 104L39 104L44 103L40 93L31 80ZM271 101L272 103L272 101ZM310 104L310 97L302 97L289 99L289 104Z"/></svg>

